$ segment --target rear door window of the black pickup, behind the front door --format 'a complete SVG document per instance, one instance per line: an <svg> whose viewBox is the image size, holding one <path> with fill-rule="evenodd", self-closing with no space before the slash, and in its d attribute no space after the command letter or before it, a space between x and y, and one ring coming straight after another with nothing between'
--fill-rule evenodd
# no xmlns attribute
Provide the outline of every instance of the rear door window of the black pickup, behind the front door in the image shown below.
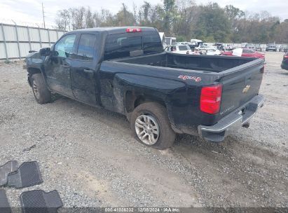
<svg viewBox="0 0 288 213"><path fill-rule="evenodd" d="M79 60L93 60L96 36L92 34L82 34L76 58Z"/></svg>

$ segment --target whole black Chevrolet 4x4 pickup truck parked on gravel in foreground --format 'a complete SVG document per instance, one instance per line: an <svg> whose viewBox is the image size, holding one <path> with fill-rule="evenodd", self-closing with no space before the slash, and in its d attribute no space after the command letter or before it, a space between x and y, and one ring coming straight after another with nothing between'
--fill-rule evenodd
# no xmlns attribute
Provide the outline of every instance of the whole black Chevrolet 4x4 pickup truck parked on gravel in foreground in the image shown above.
<svg viewBox="0 0 288 213"><path fill-rule="evenodd" d="M172 146L176 133L221 142L263 106L264 60L166 53L151 27L68 32L26 61L39 104L58 93L123 114L156 149Z"/></svg>

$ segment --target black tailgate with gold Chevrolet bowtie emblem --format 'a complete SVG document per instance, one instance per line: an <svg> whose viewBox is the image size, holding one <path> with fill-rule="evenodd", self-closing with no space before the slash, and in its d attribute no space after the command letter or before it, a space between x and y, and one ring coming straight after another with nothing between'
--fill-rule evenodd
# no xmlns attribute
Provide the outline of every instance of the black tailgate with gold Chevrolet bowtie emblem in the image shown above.
<svg viewBox="0 0 288 213"><path fill-rule="evenodd" d="M256 59L223 72L219 118L245 106L246 102L259 94L263 71L264 60Z"/></svg>

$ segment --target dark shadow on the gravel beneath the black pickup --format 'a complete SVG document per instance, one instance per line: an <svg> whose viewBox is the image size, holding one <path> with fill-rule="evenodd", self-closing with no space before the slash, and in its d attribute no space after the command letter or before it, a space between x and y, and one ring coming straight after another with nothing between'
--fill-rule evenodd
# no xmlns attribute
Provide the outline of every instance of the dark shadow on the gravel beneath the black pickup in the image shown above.
<svg viewBox="0 0 288 213"><path fill-rule="evenodd" d="M75 114L75 116L92 118L91 122L101 121L108 127L123 132L123 136L129 141L134 139L134 137L132 137L132 130L130 130L130 124L127 118L121 114L117 114L113 111L99 107L90 107L81 102L77 102L67 97L62 97L61 95L56 95L53 102L60 102L57 103L57 105L63 105L66 103L69 105L69 107L73 107L75 109L71 112L72 114ZM136 141L136 139L134 140ZM141 146L141 144L139 144L139 146ZM200 137L193 135L177 135L171 149L172 151L178 151L179 153L205 153L207 156L214 156L215 154L222 156L229 154L229 156L235 156L235 153L237 153L237 155L243 153L243 156L245 156L245 151L252 153L261 152L268 156L275 156L273 151L266 149L266 147L259 146L259 144L254 142L252 138L244 139L242 137L238 137L237 135L228 136L224 142L220 143L205 142Z"/></svg>

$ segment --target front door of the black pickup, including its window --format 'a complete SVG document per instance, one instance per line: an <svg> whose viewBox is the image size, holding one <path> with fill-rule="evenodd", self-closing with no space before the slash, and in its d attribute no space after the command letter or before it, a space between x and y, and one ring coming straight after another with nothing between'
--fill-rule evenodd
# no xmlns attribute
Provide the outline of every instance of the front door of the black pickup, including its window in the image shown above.
<svg viewBox="0 0 288 213"><path fill-rule="evenodd" d="M73 97L71 89L71 57L75 55L76 34L68 34L57 41L53 54L45 63L48 87L62 95Z"/></svg>

